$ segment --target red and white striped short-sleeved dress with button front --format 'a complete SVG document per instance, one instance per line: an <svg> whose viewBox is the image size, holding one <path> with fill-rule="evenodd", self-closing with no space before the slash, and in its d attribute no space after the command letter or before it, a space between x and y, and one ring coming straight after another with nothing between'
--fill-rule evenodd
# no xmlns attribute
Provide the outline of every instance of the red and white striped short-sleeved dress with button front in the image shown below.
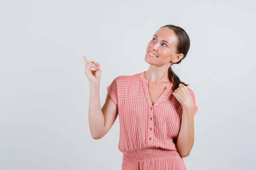
<svg viewBox="0 0 256 170"><path fill-rule="evenodd" d="M186 170L175 146L182 105L172 94L172 86L167 86L153 105L144 72L119 76L107 87L118 106L122 170ZM190 88L189 93L195 115L198 111L195 95Z"/></svg>

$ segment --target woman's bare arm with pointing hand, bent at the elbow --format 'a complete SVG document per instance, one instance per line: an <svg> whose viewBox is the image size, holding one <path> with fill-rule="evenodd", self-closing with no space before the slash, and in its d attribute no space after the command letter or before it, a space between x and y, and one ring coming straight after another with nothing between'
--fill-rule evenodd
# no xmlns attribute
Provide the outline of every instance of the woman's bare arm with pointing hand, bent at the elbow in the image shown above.
<svg viewBox="0 0 256 170"><path fill-rule="evenodd" d="M85 75L90 82L90 102L89 102L89 126L93 139L100 139L110 130L117 118L117 105L107 94L106 101L101 108L100 104L100 78L101 68L99 63L87 61L83 55L85 62ZM93 68L93 69L92 69Z"/></svg>

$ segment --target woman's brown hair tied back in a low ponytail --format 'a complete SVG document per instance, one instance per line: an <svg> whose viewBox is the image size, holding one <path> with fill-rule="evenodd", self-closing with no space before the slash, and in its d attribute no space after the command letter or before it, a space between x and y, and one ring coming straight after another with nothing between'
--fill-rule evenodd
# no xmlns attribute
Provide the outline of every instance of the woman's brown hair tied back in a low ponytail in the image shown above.
<svg viewBox="0 0 256 170"><path fill-rule="evenodd" d="M186 57L187 53L189 52L189 46L190 46L189 35L186 33L184 29L182 29L179 26L165 25L162 27L167 27L174 31L177 37L176 50L178 54L182 53L184 55L184 57L182 58L183 60ZM173 64L179 64L180 62L181 60ZM171 68L171 66L168 69L168 77L173 83L173 91L179 87L180 83L184 84L185 86L188 86L188 84L185 84L184 82L180 81L180 78L173 72L173 69Z"/></svg>

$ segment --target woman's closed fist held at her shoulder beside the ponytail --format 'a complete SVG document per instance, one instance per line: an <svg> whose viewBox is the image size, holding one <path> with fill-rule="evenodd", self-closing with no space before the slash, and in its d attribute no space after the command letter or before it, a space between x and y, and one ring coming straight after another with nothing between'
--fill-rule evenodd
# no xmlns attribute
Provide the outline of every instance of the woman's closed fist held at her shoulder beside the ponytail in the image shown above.
<svg viewBox="0 0 256 170"><path fill-rule="evenodd" d="M173 92L173 95L183 107L194 107L193 99L189 94L189 89L184 84L180 83L179 87Z"/></svg>

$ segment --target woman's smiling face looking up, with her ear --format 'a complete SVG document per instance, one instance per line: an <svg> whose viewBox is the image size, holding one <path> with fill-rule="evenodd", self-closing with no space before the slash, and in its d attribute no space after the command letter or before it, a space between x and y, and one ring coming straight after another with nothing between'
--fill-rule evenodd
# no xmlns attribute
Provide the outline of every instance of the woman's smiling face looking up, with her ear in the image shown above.
<svg viewBox="0 0 256 170"><path fill-rule="evenodd" d="M170 67L179 54L176 53L177 37L173 30L162 27L148 43L145 61L155 66Z"/></svg>

